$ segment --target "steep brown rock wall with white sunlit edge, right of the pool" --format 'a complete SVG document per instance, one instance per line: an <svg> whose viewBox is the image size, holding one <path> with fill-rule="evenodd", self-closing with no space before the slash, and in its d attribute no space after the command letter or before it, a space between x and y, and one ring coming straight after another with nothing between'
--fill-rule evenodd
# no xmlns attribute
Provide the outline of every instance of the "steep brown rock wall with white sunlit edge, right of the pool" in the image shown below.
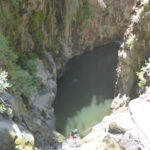
<svg viewBox="0 0 150 150"><path fill-rule="evenodd" d="M124 35L124 42L118 52L116 98L112 108L127 106L129 99L137 97L140 72L150 56L150 2L141 1L132 10L132 21Z"/></svg>

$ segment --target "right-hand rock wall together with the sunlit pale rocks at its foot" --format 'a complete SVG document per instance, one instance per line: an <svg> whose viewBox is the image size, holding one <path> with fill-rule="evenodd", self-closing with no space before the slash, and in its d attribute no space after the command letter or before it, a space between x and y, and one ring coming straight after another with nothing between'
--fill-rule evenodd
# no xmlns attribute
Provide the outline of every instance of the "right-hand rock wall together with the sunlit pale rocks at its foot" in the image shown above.
<svg viewBox="0 0 150 150"><path fill-rule="evenodd" d="M149 19L150 1L138 1L118 53L116 97L112 103L114 112L79 140L79 145L74 144L76 149L150 149ZM71 144L68 141L63 148L67 149Z"/></svg>

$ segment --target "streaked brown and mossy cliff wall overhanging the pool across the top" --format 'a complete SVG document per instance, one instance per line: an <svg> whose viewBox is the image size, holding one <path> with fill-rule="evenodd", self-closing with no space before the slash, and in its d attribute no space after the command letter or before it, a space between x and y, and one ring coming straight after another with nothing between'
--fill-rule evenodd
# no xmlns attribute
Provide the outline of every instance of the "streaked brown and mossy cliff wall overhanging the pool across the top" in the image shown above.
<svg viewBox="0 0 150 150"><path fill-rule="evenodd" d="M1 26L20 52L55 54L62 60L58 60L59 70L59 65L85 49L122 38L134 3L135 0L3 1Z"/></svg>

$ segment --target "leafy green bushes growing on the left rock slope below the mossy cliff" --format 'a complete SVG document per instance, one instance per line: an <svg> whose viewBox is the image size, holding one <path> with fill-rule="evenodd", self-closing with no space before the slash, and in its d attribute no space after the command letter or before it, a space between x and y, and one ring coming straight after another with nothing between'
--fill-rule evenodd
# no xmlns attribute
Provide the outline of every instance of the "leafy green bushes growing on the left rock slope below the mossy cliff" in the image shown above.
<svg viewBox="0 0 150 150"><path fill-rule="evenodd" d="M12 84L10 92L21 98L24 94L25 97L29 98L31 93L34 92L37 81L36 77L36 57L22 56L22 61L14 53L13 48L8 46L6 38L0 33L0 64L4 70L9 71L9 79ZM18 65L18 61L21 61L21 65ZM26 63L25 63L26 62Z"/></svg>

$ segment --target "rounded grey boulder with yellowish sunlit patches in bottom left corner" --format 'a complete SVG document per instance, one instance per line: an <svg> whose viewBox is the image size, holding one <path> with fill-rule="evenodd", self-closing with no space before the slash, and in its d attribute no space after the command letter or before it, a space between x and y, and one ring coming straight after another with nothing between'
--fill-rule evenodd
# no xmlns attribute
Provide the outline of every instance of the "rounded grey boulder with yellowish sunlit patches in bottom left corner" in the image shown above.
<svg viewBox="0 0 150 150"><path fill-rule="evenodd" d="M8 120L0 119L0 150L32 150L33 135L22 126Z"/></svg>

